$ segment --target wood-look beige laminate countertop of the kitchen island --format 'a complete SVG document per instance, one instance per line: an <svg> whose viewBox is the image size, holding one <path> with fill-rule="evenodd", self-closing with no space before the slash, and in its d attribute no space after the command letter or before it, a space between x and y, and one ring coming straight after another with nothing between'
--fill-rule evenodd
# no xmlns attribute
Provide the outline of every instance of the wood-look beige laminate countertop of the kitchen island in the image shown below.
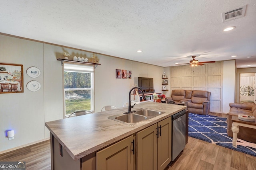
<svg viewBox="0 0 256 170"><path fill-rule="evenodd" d="M164 111L165 113L133 126L107 118L111 115L122 115L128 111L128 107L121 107L110 111L50 121L46 122L45 126L70 156L74 160L78 160L170 117L186 109L186 106L143 102L136 104L132 110L140 108Z"/></svg>

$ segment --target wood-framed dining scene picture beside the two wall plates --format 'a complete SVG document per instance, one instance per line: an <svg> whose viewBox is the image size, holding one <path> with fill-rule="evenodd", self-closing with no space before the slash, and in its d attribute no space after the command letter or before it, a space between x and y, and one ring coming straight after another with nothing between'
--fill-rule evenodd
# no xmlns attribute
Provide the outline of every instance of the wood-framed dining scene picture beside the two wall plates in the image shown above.
<svg viewBox="0 0 256 170"><path fill-rule="evenodd" d="M23 65L0 63L0 93L23 93Z"/></svg>

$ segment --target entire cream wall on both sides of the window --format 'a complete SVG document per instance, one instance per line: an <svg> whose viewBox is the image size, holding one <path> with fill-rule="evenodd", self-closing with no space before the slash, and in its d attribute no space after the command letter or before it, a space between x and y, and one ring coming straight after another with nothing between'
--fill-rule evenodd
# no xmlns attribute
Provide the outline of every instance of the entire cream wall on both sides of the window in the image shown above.
<svg viewBox="0 0 256 170"><path fill-rule="evenodd" d="M47 121L63 118L63 75L61 62L63 49L69 54L90 57L91 53L62 48L55 45L28 41L0 35L0 63L23 64L24 93L0 94L0 151L12 149L46 139L50 132L44 126ZM130 86L138 84L138 77L153 77L156 92L162 90L164 68L150 64L98 55L99 63L94 74L95 111L103 106L122 107L128 102ZM41 75L31 78L26 70L36 66ZM116 79L118 69L132 70L132 79ZM26 84L40 82L41 89L31 92ZM14 140L8 141L5 131L14 129Z"/></svg>

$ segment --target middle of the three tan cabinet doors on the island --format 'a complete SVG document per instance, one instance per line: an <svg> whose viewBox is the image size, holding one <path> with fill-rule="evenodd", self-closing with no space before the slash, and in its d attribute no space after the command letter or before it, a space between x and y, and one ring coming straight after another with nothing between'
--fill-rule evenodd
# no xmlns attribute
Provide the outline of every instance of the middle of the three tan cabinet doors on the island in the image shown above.
<svg viewBox="0 0 256 170"><path fill-rule="evenodd" d="M154 124L138 133L137 141L137 170L157 169L157 124Z"/></svg>

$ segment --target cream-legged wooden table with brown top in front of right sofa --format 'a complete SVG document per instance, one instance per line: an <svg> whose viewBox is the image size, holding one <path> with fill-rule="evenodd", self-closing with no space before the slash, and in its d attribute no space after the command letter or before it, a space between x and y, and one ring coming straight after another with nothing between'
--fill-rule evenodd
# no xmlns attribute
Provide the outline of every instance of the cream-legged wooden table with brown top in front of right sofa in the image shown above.
<svg viewBox="0 0 256 170"><path fill-rule="evenodd" d="M233 147L237 147L237 145L242 145L242 146L248 146L248 147L252 147L256 149L256 144L254 143L249 143L246 141L243 141L241 139L239 139L238 141L241 142L237 142L237 134L239 132L239 126L243 126L243 127L249 127L249 128L253 128L256 129L256 122L255 121L242 121L240 119L238 119L238 116L232 116L232 132L233 132L233 141L232 141L232 145Z"/></svg>

